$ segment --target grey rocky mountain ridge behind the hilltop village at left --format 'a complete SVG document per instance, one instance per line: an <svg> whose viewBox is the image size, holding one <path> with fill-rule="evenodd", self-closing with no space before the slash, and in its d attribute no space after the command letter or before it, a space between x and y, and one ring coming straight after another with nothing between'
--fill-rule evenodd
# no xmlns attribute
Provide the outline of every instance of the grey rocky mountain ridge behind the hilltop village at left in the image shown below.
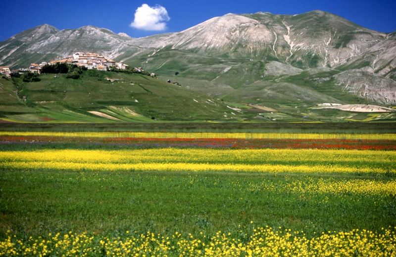
<svg viewBox="0 0 396 257"><path fill-rule="evenodd" d="M1 42L0 61L3 65L27 67L31 62L49 61L76 51L99 52L113 58L127 46L131 38L126 36L95 26L57 30L44 24Z"/></svg>

